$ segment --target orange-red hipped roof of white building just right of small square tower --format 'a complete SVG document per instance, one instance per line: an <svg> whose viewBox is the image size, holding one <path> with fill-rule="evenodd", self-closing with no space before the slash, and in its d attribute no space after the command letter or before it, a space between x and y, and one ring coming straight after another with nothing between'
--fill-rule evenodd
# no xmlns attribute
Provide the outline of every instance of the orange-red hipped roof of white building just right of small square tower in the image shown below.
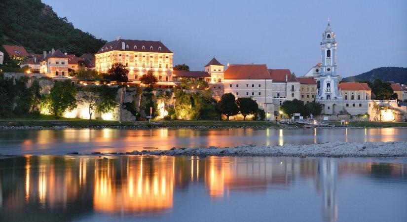
<svg viewBox="0 0 407 222"><path fill-rule="evenodd" d="M265 64L229 65L224 71L225 79L271 79Z"/></svg>

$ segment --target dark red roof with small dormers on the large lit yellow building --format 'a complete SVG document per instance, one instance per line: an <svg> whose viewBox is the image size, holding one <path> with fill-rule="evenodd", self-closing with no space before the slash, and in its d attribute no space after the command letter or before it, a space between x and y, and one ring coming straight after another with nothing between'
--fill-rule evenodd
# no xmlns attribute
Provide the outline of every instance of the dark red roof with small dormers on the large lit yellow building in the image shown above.
<svg viewBox="0 0 407 222"><path fill-rule="evenodd" d="M124 49L122 49L122 42L124 42ZM144 49L143 49L143 46L145 47ZM150 49L151 46L152 46L152 49ZM161 47L161 50L159 50L160 47ZM118 40L107 42L95 54L100 54L100 53L109 52L109 51L113 51L113 50L132 51L132 52L172 53L161 41L118 39Z"/></svg>

